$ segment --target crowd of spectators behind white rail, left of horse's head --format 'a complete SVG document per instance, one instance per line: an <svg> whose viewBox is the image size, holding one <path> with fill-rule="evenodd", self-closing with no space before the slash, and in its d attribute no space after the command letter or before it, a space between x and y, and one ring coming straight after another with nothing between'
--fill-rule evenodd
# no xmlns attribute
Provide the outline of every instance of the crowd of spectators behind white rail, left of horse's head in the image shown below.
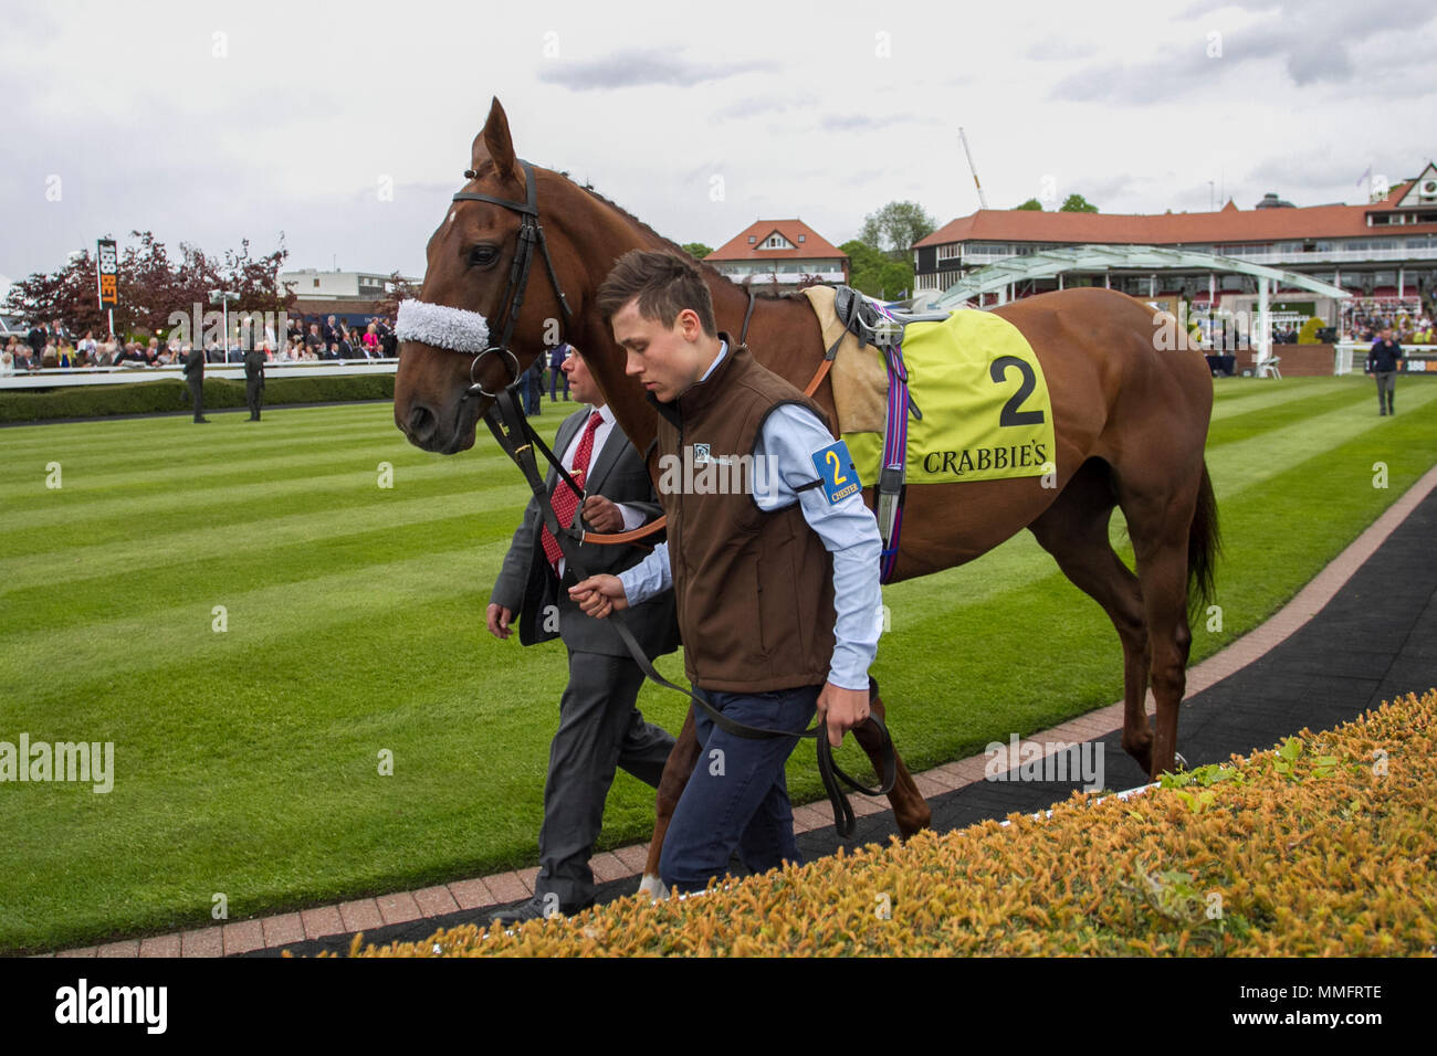
<svg viewBox="0 0 1437 1056"><path fill-rule="evenodd" d="M244 335L244 341L230 342L228 349L208 342L204 358L211 363L244 362L244 345L253 341L270 362L392 359L398 355L394 320L371 316L364 328L349 326L329 316L325 322L292 318L285 335L267 330ZM60 319L49 325L36 323L22 338L11 333L0 349L0 375L39 371L42 368L80 366L174 366L184 361L191 345L180 341L161 343L160 338L121 342L114 333L96 336L86 330L76 338Z"/></svg>

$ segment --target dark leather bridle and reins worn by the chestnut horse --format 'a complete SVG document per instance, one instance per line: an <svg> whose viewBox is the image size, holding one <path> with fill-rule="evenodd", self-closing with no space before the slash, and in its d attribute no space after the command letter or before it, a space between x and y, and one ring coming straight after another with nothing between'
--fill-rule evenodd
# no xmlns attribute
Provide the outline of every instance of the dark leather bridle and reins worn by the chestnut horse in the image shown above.
<svg viewBox="0 0 1437 1056"><path fill-rule="evenodd" d="M573 477L563 468L559 458L555 457L553 451L547 444L535 432L533 425L529 424L523 408L519 405L517 394L510 388L516 381L519 381L519 358L509 348L509 339L513 336L514 320L519 316L519 309L523 305L525 289L529 283L529 272L533 266L533 253L537 246L543 253L545 266L549 272L549 282L553 284L553 292L559 299L559 307L565 315L565 320L572 320L572 310L569 303L563 296L563 290L559 287L559 276L553 270L553 261L549 259L549 246L543 237L543 227L539 224L539 205L537 205L537 187L535 181L533 167L520 159L519 164L525 171L526 182L526 201L517 203L507 198L496 198L487 194L477 194L474 191L458 191L454 194L454 201L487 201L494 205L503 205L520 214L522 223L519 228L519 247L514 251L514 260L509 269L509 284L504 289L504 296L500 299L503 316L503 325L500 328L500 339L496 345L490 345L483 352L474 356L474 361L468 368L470 386L464 391L461 399L470 399L479 395L489 397L493 399L489 411L484 414L484 424L489 431L494 434L494 440L499 447L513 460L519 467L520 473L525 474L525 480L529 484L530 491L535 494L536 504L543 517L545 526L553 534L555 540L559 543L559 550L563 553L568 568L573 570L575 576L579 579L586 579L588 573L579 560L579 547L583 543L601 543L601 545L621 545L632 543L641 537L650 536L655 532L662 530L665 519L660 517L651 524L645 524L642 529L635 529L634 532L618 532L618 533L595 533L585 532L582 529L565 526L559 523L558 514L553 511L553 503L549 499L549 488L545 484L543 474L539 473L539 461L535 457L535 448L537 448L550 466L558 470L559 476L563 478L566 487L572 488L579 497L579 504L582 506L585 491L581 488ZM470 180L476 180L477 175L473 170L466 170L464 175ZM740 343L749 333L749 319L753 315L753 290L749 290L749 309L743 316L743 332L740 336ZM835 343L829 349L828 356L823 359L822 366L819 366L818 374L813 381L809 382L805 395L812 395L818 389L819 384L828 375L832 366L833 353L838 351ZM513 378L506 382L499 392L489 392L476 379L474 372L479 362L487 355L509 356L509 362L513 363ZM562 589L562 586L560 586ZM619 618L619 612L609 613L609 624L618 631L619 638L628 647L628 651L634 655L634 661L639 665L644 674L658 682L660 685L681 693L688 697L696 707L703 708L704 714L708 715L713 723L721 730L727 731L736 737L744 737L749 740L767 740L773 737L795 737L805 738L812 737L818 751L818 770L819 777L823 782L823 790L828 793L829 803L833 807L833 825L838 829L839 836L848 839L854 835L855 816L854 809L848 802L846 795L839 787L839 782L846 784L854 792L861 792L865 796L887 796L898 776L897 754L894 751L892 737L888 734L888 728L884 726L878 715L871 714L865 721L872 723L881 738L882 738L882 761L881 773L878 773L879 784L875 787L868 787L854 777L846 774L832 757L832 749L828 743L828 726L822 720L815 720L813 726L802 733L793 733L792 730L770 730L766 727L744 726L743 723L736 723L716 707L713 707L707 694L700 688L694 687L693 691L685 690L681 685L664 678L654 668L650 661L648 654L638 644L634 632L628 628L624 619Z"/></svg>

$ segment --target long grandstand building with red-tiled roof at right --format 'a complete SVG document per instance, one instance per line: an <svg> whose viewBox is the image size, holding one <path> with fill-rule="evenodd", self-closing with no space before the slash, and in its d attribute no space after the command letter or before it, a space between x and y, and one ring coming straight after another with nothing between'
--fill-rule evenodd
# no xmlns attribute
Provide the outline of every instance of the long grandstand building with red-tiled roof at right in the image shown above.
<svg viewBox="0 0 1437 1056"><path fill-rule="evenodd" d="M1295 272L1352 293L1338 307L1334 299L1283 289L1273 292L1279 319L1299 322L1318 316L1346 329L1364 312L1382 315L1423 310L1437 289L1437 167L1391 188L1365 205L1293 207L1267 194L1252 210L1229 201L1216 213L1119 216L1102 213L1040 213L979 210L960 217L912 246L914 284L948 290L977 269L997 261L1020 264L1022 257L1079 247L1158 247L1210 253L1247 264ZM1252 313L1257 282L1250 274L1174 263L1122 266L1121 257L1056 274L1022 277L974 303L1046 293L1071 286L1108 286L1145 300L1194 309ZM1102 254L1094 254L1095 263Z"/></svg>

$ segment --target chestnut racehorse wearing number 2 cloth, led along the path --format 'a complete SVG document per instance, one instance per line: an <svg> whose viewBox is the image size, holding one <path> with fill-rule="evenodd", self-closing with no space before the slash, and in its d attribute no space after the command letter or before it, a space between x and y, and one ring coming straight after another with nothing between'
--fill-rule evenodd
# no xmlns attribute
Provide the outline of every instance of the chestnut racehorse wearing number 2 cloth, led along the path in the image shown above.
<svg viewBox="0 0 1437 1056"><path fill-rule="evenodd" d="M627 250L683 250L566 177L526 168L514 155L497 98L474 138L466 175L470 180L461 198L430 237L420 300L477 312L487 320L509 319L513 359L499 353L476 359L404 342L394 385L395 424L410 443L428 451L454 454L473 447L477 421L491 404L476 397L479 389L499 392L513 379L514 362L519 369L529 366L558 343L562 329L562 339L582 351L619 427L639 451L648 450L655 435L654 409L625 376L625 351L614 342L593 299ZM512 266L522 223L530 226L523 237L533 237L533 217L512 204L525 203L530 191L543 228L545 267L522 270L522 306L512 312ZM704 272L718 329L737 336L749 318L747 287L711 267L704 266ZM752 303L747 343L754 358L805 388L825 351L808 299L760 296ZM1122 747L1157 777L1173 769L1177 750L1191 641L1190 588L1193 602L1206 599L1217 547L1217 509L1203 460L1211 375L1197 352L1157 351L1161 316L1122 293L1071 289L1004 305L996 315L1023 333L1043 368L1056 477L1048 486L1026 477L910 487L892 580L963 565L1026 527L1112 619L1124 655ZM497 335L490 341L502 342ZM826 378L813 398L833 421ZM650 471L654 468L651 464ZM874 488L865 488L864 497L872 506ZM1137 575L1109 545L1114 507L1127 519ZM1155 731L1145 713L1150 685L1157 703ZM884 714L877 694L872 711ZM865 743L862 734L858 740L877 767L879 746ZM662 835L697 759L690 710L660 784L644 889L658 889ZM888 799L900 832L908 836L928 823L930 813L901 761L897 770Z"/></svg>

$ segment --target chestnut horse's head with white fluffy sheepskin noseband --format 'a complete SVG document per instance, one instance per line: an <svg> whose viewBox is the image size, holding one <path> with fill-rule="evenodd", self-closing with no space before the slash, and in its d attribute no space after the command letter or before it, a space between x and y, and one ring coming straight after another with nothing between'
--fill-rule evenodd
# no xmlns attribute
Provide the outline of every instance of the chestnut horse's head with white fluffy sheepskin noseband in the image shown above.
<svg viewBox="0 0 1437 1056"><path fill-rule="evenodd" d="M509 119L496 98L474 136L470 181L430 237L420 299L401 306L394 422L411 444L443 454L473 447L479 417L493 402L487 394L497 394L565 338L569 309L549 269L552 263L560 289L573 289L578 266L568 246L546 251L545 243L535 243L539 217L527 203L539 172L526 171L514 157ZM527 267L520 254L529 256ZM514 286L522 299L517 315Z"/></svg>

